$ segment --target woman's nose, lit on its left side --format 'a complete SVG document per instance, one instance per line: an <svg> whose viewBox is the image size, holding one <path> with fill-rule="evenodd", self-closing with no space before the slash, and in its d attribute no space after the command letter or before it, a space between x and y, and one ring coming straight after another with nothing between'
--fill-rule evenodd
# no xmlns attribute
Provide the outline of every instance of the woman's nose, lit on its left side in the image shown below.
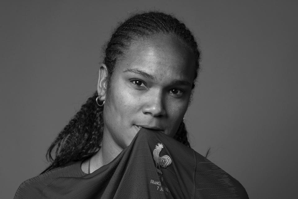
<svg viewBox="0 0 298 199"><path fill-rule="evenodd" d="M145 102L142 111L144 114L150 114L154 117L164 116L166 114L166 111L163 104L162 94L160 93L148 97L147 102Z"/></svg>

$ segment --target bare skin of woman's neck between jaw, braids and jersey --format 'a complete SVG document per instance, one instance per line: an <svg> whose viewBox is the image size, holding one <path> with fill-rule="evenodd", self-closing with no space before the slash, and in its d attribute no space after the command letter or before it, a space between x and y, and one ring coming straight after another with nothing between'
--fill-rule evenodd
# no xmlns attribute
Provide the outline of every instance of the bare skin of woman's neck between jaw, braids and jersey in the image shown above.
<svg viewBox="0 0 298 199"><path fill-rule="evenodd" d="M111 134L104 128L102 147L90 159L90 173L112 162L122 150L123 148L115 143Z"/></svg>

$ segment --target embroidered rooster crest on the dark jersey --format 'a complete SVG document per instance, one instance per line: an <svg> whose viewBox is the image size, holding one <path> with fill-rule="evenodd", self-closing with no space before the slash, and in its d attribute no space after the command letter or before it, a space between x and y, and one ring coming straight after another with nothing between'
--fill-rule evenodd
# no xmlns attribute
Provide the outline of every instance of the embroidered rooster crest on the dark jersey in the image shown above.
<svg viewBox="0 0 298 199"><path fill-rule="evenodd" d="M164 148L164 145L161 143L157 143L155 145L155 149L153 150L153 158L156 163L156 171L162 175L162 172L160 170L160 167L166 168L169 167L172 164L172 159L168 155L159 156L161 149ZM157 168L159 167L159 169Z"/></svg>

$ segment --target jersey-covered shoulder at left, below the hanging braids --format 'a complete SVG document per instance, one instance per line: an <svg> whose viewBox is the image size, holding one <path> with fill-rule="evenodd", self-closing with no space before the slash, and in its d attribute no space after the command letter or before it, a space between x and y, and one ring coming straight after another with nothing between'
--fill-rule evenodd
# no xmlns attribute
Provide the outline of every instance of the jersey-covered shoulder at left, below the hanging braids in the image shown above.
<svg viewBox="0 0 298 199"><path fill-rule="evenodd" d="M20 184L14 198L44 198L44 190L60 177L80 177L84 173L80 170L79 162L71 162L68 166L59 167L43 174L25 180Z"/></svg>

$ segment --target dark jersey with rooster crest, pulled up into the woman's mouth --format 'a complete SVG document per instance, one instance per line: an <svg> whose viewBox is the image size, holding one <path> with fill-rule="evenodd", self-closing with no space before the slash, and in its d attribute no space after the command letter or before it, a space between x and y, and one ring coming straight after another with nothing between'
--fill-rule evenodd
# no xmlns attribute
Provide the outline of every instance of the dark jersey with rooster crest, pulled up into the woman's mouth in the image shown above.
<svg viewBox="0 0 298 199"><path fill-rule="evenodd" d="M237 180L193 149L163 133L142 128L129 147L93 173L84 174L81 162L75 162L26 180L15 198L248 196Z"/></svg>

